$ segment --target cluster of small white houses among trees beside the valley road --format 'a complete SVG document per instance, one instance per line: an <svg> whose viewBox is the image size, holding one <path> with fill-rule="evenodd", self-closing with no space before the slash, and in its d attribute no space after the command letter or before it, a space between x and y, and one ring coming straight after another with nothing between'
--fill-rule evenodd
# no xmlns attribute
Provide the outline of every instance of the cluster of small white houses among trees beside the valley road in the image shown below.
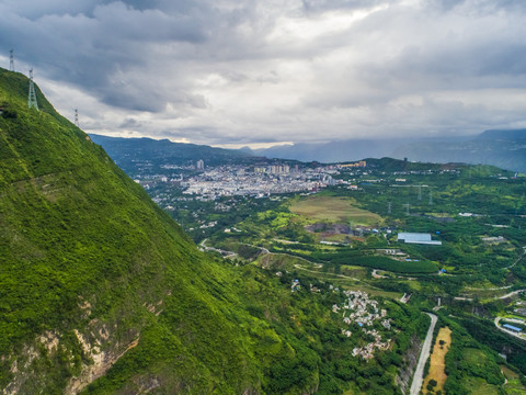
<svg viewBox="0 0 526 395"><path fill-rule="evenodd" d="M391 330L391 319L387 317L385 308L378 308L378 301L369 298L369 295L362 291L344 291L347 301L343 306L334 304L332 306L333 313L342 313L343 323L347 326L357 324L364 335L371 336L375 340L364 347L356 347L353 349L353 357L359 356L365 360L374 357L375 349L387 350L391 339L382 341L381 335L376 329L368 329L366 327L373 326L375 320L381 320L380 324L387 330ZM342 329L342 334L351 337L353 332L348 329Z"/></svg>

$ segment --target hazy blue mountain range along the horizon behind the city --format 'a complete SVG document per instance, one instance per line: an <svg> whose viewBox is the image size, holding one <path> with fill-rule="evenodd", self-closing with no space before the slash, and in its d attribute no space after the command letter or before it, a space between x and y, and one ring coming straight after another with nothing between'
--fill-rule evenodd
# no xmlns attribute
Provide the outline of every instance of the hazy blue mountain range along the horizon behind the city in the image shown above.
<svg viewBox="0 0 526 395"><path fill-rule="evenodd" d="M300 143L263 149L222 149L168 139L123 138L91 135L125 171L138 162L185 165L204 159L206 165L253 163L254 159L279 158L304 162L344 162L364 158L424 162L492 165L526 172L526 129L485 131L476 136L442 138L350 139L325 144Z"/></svg>

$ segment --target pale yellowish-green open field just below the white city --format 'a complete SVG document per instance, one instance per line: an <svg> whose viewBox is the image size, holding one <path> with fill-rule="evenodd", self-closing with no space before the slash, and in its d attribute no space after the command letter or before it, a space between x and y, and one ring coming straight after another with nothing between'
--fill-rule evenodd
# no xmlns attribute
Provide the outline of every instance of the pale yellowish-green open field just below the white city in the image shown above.
<svg viewBox="0 0 526 395"><path fill-rule="evenodd" d="M312 221L352 222L365 226L382 222L378 214L358 208L357 202L351 198L315 195L293 203L289 210Z"/></svg>

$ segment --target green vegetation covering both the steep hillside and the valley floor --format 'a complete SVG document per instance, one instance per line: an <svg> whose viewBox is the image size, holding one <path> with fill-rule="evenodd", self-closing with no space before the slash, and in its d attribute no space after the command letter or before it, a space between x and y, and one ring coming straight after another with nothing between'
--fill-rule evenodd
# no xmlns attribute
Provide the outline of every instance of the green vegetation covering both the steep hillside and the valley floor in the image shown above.
<svg viewBox="0 0 526 395"><path fill-rule="evenodd" d="M428 326L421 309L433 307L436 297L447 304L437 313L443 325L454 330L446 356L448 393L502 386L499 366L525 373L519 340L472 316L505 306L490 301L481 307L479 297L490 297L482 293L473 303L454 300L469 286L507 291L524 283L524 180L499 179L488 167L404 176L433 185L431 207L412 188L388 188L392 179L356 179L362 190L352 199L343 188L322 195L329 207L332 199L352 206L351 224L343 218L347 227L338 215L325 221L296 214L290 207L300 198L293 195L221 202L238 212L216 212L211 202L185 202L181 214L175 207L171 214L183 225L197 224L193 213L220 224L219 232L193 236L210 237L210 245L237 253L226 261L199 252L39 90L41 111L27 110L27 83L24 76L0 69L0 387L5 393L400 394L397 377ZM422 171L422 165L390 159L370 163L364 180ZM412 215L403 208L408 201ZM392 213L386 212L387 202ZM458 216L473 207L484 217ZM224 232L227 226L235 230ZM430 232L444 242L403 245L388 229ZM484 242L481 236L505 241ZM386 249L411 259L386 256ZM302 286L291 292L294 281ZM392 325L390 347L369 361L353 357L353 350L371 341L370 335L355 323L344 326L333 309L346 301L345 290L355 289L374 294ZM402 293L412 295L411 304L399 302ZM374 328L388 334L379 323ZM508 361L490 348L505 352Z"/></svg>

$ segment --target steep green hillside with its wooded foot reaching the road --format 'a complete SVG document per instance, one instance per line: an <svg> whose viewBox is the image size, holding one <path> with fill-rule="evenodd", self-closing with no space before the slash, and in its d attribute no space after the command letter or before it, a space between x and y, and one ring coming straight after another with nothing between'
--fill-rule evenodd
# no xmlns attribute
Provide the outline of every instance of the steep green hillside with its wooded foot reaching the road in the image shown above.
<svg viewBox="0 0 526 395"><path fill-rule="evenodd" d="M390 348L353 357L373 340L342 334L343 290L293 293L297 273L199 252L38 90L28 110L27 88L0 69L3 394L400 393L425 315L385 302Z"/></svg>

